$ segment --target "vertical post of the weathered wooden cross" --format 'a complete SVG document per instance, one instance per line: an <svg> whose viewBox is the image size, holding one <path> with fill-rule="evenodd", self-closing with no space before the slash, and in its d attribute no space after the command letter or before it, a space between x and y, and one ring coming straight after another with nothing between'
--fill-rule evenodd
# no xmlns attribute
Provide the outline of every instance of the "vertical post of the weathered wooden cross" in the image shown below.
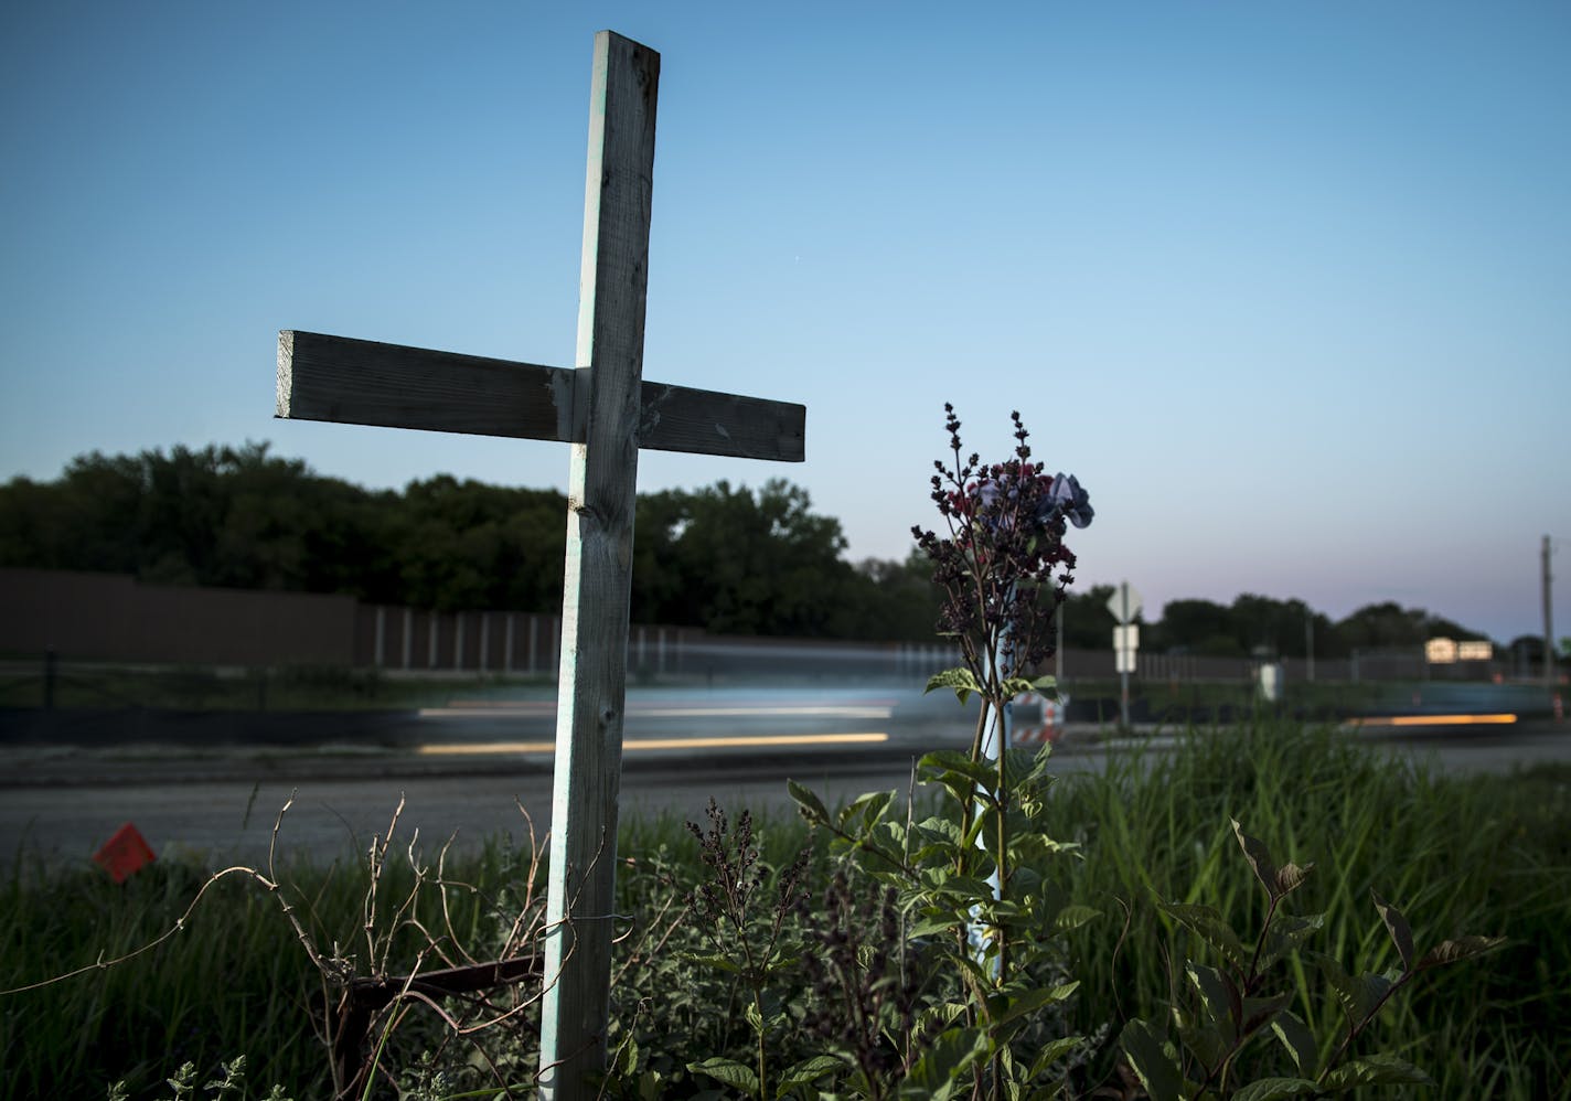
<svg viewBox="0 0 1571 1101"><path fill-rule="evenodd" d="M605 1066L660 55L595 35L556 700L540 1096Z"/></svg>

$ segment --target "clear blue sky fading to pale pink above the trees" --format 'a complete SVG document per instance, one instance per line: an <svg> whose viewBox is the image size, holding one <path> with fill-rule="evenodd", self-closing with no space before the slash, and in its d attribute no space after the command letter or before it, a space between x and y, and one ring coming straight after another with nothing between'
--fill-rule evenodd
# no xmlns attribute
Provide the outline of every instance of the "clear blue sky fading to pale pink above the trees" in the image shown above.
<svg viewBox="0 0 1571 1101"><path fill-rule="evenodd" d="M644 377L801 402L847 554L944 402L1079 476L1081 586L1571 635L1571 5L0 8L0 479L270 441L566 488L567 448L273 419L298 328L572 366L594 33L661 55ZM1558 580L1563 576L1565 580Z"/></svg>

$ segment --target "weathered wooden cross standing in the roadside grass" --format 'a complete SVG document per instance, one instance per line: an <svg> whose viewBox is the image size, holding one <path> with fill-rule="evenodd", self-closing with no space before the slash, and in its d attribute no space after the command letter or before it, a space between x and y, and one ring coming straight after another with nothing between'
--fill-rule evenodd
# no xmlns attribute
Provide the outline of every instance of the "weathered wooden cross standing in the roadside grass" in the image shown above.
<svg viewBox="0 0 1571 1101"><path fill-rule="evenodd" d="M610 1015L638 449L801 462L806 408L643 382L660 55L595 36L577 369L278 335L278 416L572 444L540 1090L591 1096Z"/></svg>

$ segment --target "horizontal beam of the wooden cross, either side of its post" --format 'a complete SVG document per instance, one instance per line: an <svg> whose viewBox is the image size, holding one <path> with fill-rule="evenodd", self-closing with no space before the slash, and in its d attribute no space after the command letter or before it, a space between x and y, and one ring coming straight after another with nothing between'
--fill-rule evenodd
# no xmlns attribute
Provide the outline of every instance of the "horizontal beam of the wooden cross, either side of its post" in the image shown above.
<svg viewBox="0 0 1571 1101"><path fill-rule="evenodd" d="M276 416L583 443L583 374L567 368L283 330ZM793 402L641 383L638 446L803 462L807 410Z"/></svg>

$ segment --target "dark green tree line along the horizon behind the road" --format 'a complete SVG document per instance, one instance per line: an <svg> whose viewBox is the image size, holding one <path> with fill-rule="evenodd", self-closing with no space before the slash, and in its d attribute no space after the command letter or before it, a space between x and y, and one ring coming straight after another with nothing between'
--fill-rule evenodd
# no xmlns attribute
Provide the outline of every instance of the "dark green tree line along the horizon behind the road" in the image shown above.
<svg viewBox="0 0 1571 1101"><path fill-rule="evenodd" d="M0 485L0 565L143 581L335 592L438 611L561 606L567 499L446 474L368 490L265 443L93 452L55 481ZM903 561L845 559L839 520L782 479L639 493L633 622L720 635L932 641L939 592ZM1111 649L1112 586L1071 591L1064 644ZM1423 609L1370 605L1332 622L1301 600L1174 600L1147 652L1345 657L1478 633Z"/></svg>

